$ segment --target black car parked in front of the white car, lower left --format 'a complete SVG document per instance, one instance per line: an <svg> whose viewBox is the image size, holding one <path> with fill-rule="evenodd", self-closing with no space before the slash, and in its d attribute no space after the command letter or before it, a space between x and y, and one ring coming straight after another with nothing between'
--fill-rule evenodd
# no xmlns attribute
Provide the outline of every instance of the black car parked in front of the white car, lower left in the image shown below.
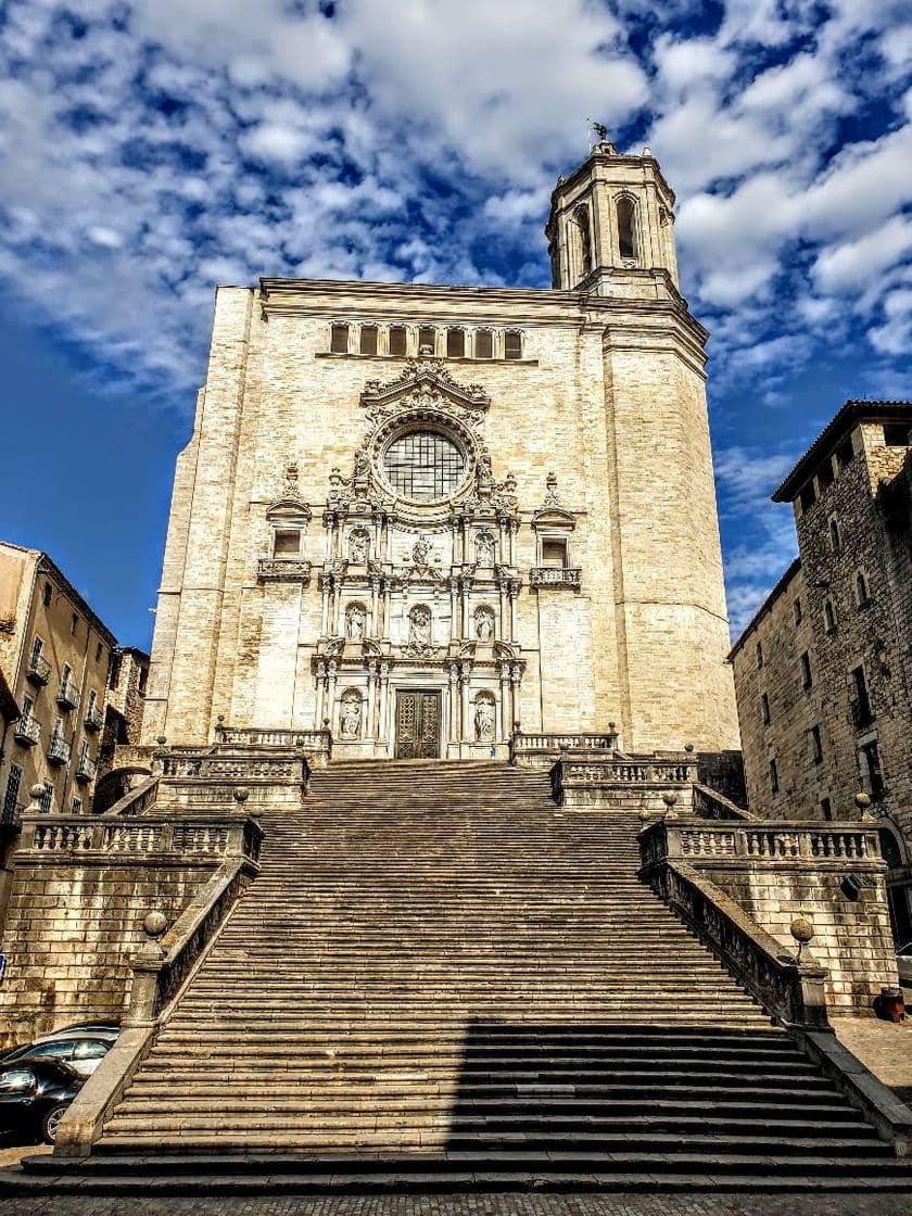
<svg viewBox="0 0 912 1216"><path fill-rule="evenodd" d="M0 1065L0 1136L16 1144L54 1144L63 1113L84 1085L85 1077L62 1060Z"/></svg>

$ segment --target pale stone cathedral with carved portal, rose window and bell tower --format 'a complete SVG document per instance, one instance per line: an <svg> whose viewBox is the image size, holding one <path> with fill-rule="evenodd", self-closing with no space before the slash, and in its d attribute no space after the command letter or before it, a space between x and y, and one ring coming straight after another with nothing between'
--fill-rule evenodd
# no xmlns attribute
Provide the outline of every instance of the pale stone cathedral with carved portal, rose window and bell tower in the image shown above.
<svg viewBox="0 0 912 1216"><path fill-rule="evenodd" d="M337 756L737 747L674 195L602 142L546 235L551 289L218 291L143 743L221 721L328 730Z"/></svg>

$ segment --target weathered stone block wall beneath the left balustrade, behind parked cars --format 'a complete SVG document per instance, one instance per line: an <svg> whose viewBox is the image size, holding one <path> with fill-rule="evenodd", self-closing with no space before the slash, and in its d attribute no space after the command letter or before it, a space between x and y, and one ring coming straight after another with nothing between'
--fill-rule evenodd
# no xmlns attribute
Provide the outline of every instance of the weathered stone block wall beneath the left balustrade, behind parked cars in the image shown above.
<svg viewBox="0 0 912 1216"><path fill-rule="evenodd" d="M83 1020L119 1020L153 908L173 922L212 867L19 860L4 929L0 1048Z"/></svg>

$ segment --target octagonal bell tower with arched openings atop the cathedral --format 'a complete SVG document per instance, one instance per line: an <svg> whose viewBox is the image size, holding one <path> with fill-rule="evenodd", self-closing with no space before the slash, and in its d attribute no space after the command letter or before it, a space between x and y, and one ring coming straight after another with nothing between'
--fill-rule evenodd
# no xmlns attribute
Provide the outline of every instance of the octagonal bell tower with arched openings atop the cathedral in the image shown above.
<svg viewBox="0 0 912 1216"><path fill-rule="evenodd" d="M545 229L551 286L614 295L630 271L664 270L677 287L675 193L643 148L621 156L601 140L569 178L558 178Z"/></svg>

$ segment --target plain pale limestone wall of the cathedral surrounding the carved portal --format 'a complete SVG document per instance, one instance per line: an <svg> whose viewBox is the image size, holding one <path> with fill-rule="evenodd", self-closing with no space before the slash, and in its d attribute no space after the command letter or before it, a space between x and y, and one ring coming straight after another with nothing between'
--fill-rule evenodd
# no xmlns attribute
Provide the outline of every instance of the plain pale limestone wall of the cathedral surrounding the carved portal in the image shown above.
<svg viewBox="0 0 912 1216"><path fill-rule="evenodd" d="M644 283L637 292L648 295ZM175 482L145 742L159 733L203 741L220 714L233 725L316 725L310 660L327 477L333 466L351 472L367 381L388 382L405 366L327 358L330 322L347 320L524 334L520 361L444 360L455 379L489 394L482 429L494 478L517 479L523 726L599 731L615 721L631 749L736 743L705 334L663 275L652 295L590 299L582 310L561 292L281 281L268 297L220 289L195 438ZM264 585L257 561L268 552L266 511L289 462L313 511L303 545L313 576ZM582 572L579 595L528 587L537 561L531 516L551 471L575 520L569 562ZM428 533L445 552L446 529ZM400 548L406 540L400 531ZM447 612L444 596L439 626Z"/></svg>

